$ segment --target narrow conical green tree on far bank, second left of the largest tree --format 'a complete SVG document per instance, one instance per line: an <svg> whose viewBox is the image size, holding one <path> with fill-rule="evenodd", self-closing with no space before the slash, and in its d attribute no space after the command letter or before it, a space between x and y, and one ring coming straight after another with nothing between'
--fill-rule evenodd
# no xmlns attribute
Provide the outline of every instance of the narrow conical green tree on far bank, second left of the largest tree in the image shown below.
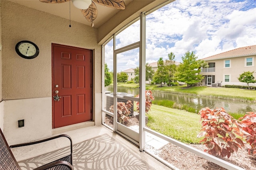
<svg viewBox="0 0 256 170"><path fill-rule="evenodd" d="M162 82L167 81L167 70L164 65L164 60L162 57L157 61L157 70L155 72L155 75L153 77L153 81L156 83L160 83L160 86L162 87Z"/></svg>

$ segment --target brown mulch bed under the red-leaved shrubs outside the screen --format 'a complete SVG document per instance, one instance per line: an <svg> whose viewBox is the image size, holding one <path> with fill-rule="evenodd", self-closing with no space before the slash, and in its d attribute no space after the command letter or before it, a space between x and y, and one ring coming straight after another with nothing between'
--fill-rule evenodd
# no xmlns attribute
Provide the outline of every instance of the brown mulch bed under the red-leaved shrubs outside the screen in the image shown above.
<svg viewBox="0 0 256 170"><path fill-rule="evenodd" d="M106 115L106 122L108 126L113 127L113 118ZM129 118L128 123L124 123L127 127L133 125L139 125L138 115ZM202 144L189 144L190 146L199 150L204 150ZM160 158L166 160L170 164L174 165L180 170L226 170L221 166L218 166L196 154L193 154L179 146L168 143L160 150L154 148L147 148L158 155ZM218 157L221 158L221 157ZM227 162L230 162L236 166L240 166L245 170L256 170L256 156L248 154L246 149L238 150L238 153L234 153L230 158L221 158Z"/></svg>

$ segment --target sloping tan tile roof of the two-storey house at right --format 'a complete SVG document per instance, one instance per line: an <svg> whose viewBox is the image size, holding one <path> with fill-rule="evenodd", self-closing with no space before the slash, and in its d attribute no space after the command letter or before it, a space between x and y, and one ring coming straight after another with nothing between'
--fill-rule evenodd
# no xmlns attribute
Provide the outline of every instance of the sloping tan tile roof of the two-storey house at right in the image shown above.
<svg viewBox="0 0 256 170"><path fill-rule="evenodd" d="M242 57L248 55L256 55L256 45L251 45L247 47L240 47L236 49L232 49L230 51L226 51L224 53L212 55L210 57L203 58L203 60L214 60L214 59L222 59L222 58L230 58L230 57Z"/></svg>

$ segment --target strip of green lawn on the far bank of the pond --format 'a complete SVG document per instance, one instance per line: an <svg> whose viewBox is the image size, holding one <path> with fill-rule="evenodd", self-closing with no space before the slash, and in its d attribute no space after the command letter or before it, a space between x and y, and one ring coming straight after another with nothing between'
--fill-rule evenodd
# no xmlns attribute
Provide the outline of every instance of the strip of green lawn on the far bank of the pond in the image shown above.
<svg viewBox="0 0 256 170"><path fill-rule="evenodd" d="M138 84L135 83L120 83L118 86L138 88ZM214 97L219 99L237 100L243 102L256 102L256 90L248 89L236 89L225 87L206 87L206 86L194 86L186 88L186 85L171 86L171 87L159 87L158 85L146 86L146 89L152 91L165 91L169 93L186 93L191 95L201 95Z"/></svg>

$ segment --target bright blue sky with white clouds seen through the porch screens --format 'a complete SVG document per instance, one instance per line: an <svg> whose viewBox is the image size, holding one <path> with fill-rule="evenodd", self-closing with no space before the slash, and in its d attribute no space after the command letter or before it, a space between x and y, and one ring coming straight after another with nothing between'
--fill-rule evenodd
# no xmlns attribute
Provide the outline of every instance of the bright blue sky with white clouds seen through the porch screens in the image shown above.
<svg viewBox="0 0 256 170"><path fill-rule="evenodd" d="M116 36L116 49L140 38L140 22ZM105 63L113 70L112 41L105 46ZM176 0L146 16L146 63L168 59L182 62L187 51L198 59L239 47L256 45L255 0ZM138 49L118 55L118 72L139 65Z"/></svg>

